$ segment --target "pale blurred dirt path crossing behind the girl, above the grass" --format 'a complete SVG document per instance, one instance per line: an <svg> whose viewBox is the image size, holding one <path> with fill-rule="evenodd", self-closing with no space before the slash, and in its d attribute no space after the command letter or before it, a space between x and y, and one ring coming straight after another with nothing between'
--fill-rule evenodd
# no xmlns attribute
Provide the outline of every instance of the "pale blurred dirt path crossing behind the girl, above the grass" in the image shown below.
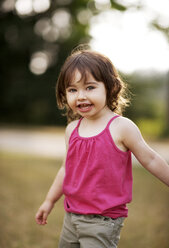
<svg viewBox="0 0 169 248"><path fill-rule="evenodd" d="M169 141L149 142L149 145L169 162ZM65 154L64 129L0 128L0 151L63 158Z"/></svg>

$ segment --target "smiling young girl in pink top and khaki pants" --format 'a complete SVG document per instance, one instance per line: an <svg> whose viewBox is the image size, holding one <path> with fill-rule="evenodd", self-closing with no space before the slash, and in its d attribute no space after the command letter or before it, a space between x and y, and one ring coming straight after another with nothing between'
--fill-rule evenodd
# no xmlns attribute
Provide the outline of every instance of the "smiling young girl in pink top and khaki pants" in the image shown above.
<svg viewBox="0 0 169 248"><path fill-rule="evenodd" d="M57 101L66 108L67 156L36 222L47 223L64 194L66 211L59 248L115 248L126 204L132 200L131 152L169 185L169 166L144 141L137 126L121 116L125 85L111 61L90 50L74 52L57 82Z"/></svg>

